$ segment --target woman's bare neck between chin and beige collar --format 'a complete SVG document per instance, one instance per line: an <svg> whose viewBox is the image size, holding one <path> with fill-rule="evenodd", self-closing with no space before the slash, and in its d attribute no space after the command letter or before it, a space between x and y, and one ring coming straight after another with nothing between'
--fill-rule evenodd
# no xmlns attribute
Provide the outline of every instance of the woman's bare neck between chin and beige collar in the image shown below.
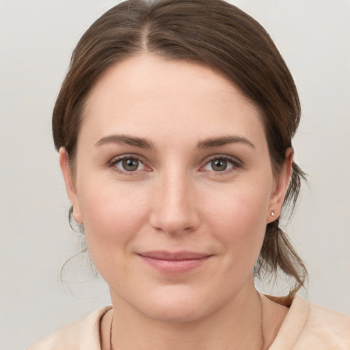
<svg viewBox="0 0 350 350"><path fill-rule="evenodd" d="M201 319L167 322L140 314L113 299L113 349L263 349L262 304L255 288ZM124 305L123 305L124 304Z"/></svg>

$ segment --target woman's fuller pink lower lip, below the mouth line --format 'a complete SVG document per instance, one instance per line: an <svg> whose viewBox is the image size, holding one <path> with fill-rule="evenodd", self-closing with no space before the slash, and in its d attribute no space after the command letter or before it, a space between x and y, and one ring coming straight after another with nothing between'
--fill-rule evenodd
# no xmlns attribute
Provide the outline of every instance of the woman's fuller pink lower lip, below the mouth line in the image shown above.
<svg viewBox="0 0 350 350"><path fill-rule="evenodd" d="M165 273L186 273L196 267L200 267L208 258L211 256L206 256L200 259L185 259L185 260L162 260L149 258L148 256L141 256L141 258L146 261L149 265L155 269L165 272Z"/></svg>

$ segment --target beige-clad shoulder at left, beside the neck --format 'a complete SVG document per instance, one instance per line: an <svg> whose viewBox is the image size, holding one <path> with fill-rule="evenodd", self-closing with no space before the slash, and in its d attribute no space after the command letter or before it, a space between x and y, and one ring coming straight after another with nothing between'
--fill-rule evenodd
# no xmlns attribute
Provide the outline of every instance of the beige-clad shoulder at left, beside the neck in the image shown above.
<svg viewBox="0 0 350 350"><path fill-rule="evenodd" d="M40 339L27 350L100 350L100 320L111 306L100 308L87 317Z"/></svg>

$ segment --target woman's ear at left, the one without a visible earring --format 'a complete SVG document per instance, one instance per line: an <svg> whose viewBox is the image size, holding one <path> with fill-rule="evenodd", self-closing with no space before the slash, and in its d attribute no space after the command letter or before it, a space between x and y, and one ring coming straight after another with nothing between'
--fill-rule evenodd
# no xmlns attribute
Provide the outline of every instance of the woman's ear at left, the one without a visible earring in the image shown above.
<svg viewBox="0 0 350 350"><path fill-rule="evenodd" d="M59 165L62 170L62 175L64 177L64 183L66 184L66 191L68 195L68 199L73 206L73 215L75 221L83 224L83 220L81 219L81 210L79 205L79 199L77 195L77 188L75 185L75 180L72 177L72 171L69 166L68 161L68 153L66 148L59 148Z"/></svg>

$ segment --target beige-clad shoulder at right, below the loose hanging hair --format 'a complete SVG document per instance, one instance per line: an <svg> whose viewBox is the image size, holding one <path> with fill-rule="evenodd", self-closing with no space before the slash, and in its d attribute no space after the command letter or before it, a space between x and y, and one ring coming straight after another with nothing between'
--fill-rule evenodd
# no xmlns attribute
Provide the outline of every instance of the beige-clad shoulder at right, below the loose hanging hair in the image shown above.
<svg viewBox="0 0 350 350"><path fill-rule="evenodd" d="M349 350L350 317L296 296L270 347L278 349Z"/></svg>

